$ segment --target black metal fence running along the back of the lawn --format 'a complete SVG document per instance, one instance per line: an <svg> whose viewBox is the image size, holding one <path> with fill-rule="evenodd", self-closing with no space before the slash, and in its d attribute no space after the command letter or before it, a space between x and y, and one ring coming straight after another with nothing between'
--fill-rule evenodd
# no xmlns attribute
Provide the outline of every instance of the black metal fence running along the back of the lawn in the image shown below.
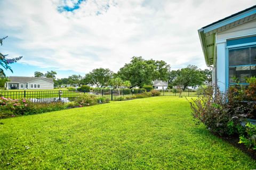
<svg viewBox="0 0 256 170"><path fill-rule="evenodd" d="M159 90L163 96L191 96L198 97L202 94L195 90ZM68 90L44 90L44 91L0 91L0 96L10 99L22 99L26 98L32 102L55 102L62 101L65 103L74 102L74 100L81 95L94 95L103 96L109 100L115 100L123 96L124 98L131 98L132 95L143 93L141 90L132 89L119 89L119 90L93 90L90 92L78 92L78 91L68 91Z"/></svg>

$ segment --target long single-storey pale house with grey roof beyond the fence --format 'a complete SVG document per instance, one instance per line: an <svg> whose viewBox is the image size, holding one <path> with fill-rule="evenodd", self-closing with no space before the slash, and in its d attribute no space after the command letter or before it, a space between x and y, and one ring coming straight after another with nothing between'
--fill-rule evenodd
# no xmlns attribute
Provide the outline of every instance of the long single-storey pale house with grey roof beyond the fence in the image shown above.
<svg viewBox="0 0 256 170"><path fill-rule="evenodd" d="M6 82L7 89L53 89L53 78L44 77L19 77L10 76L9 82Z"/></svg>

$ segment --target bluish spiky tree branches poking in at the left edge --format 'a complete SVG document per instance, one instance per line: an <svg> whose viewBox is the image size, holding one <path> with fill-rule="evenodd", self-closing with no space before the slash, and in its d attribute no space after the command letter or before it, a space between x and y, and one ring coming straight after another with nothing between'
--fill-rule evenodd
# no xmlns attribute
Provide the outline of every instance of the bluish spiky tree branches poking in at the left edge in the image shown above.
<svg viewBox="0 0 256 170"><path fill-rule="evenodd" d="M6 36L6 37L4 37L4 38L0 38L0 44L1 44L1 46L3 45L3 40L4 40L5 38L7 38L7 37L8 37L8 36ZM4 55L4 54L0 53L0 74L4 75L4 77L5 77L4 70L10 70L11 72L13 72L12 69L11 69L11 67L9 66L9 64L12 64L12 63L14 63L14 62L17 62L17 61L19 61L19 60L22 58L22 56L19 56L18 58L7 59L7 58L6 58L7 55L8 55L8 54Z"/></svg>

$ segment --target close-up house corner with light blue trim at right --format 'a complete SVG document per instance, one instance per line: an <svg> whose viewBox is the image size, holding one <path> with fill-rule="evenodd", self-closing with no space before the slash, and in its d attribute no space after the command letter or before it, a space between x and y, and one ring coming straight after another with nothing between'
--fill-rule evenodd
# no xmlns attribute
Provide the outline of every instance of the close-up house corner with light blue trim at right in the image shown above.
<svg viewBox="0 0 256 170"><path fill-rule="evenodd" d="M256 5L198 30L206 65L213 69L213 85L222 92L246 85L256 76Z"/></svg>

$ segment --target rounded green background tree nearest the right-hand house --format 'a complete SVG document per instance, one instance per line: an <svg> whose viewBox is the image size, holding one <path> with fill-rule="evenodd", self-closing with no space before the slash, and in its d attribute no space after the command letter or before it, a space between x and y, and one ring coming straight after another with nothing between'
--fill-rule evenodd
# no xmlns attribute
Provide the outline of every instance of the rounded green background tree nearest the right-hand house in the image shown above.
<svg viewBox="0 0 256 170"><path fill-rule="evenodd" d="M188 86L202 85L204 80L201 69L198 69L197 66L188 65L187 68L180 69L179 75L174 80L174 85L183 86L185 89Z"/></svg>

